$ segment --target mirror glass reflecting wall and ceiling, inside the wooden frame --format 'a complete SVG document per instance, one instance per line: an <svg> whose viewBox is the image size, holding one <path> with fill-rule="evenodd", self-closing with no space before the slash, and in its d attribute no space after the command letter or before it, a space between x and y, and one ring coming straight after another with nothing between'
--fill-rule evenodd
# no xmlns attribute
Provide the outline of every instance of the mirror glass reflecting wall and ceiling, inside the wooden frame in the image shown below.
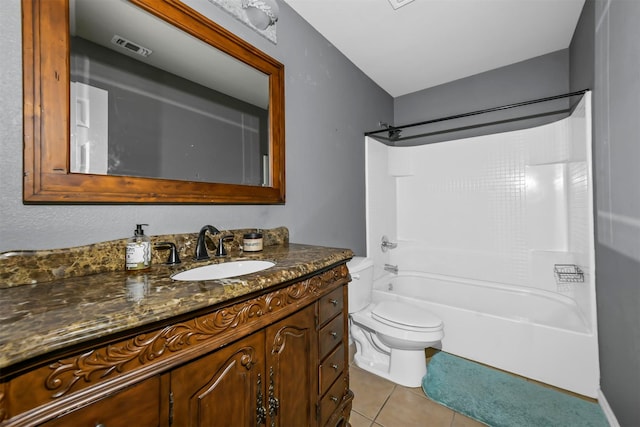
<svg viewBox="0 0 640 427"><path fill-rule="evenodd" d="M269 186L269 76L124 0L72 0L70 171Z"/></svg>

